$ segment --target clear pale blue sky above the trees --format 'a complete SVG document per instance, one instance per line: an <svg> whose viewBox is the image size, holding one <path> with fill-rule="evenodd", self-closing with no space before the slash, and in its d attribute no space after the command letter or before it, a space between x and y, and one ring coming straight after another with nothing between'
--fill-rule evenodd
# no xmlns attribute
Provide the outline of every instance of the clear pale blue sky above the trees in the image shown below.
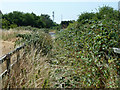
<svg viewBox="0 0 120 90"><path fill-rule="evenodd" d="M0 0L0 9L3 14L21 11L35 13L36 15L48 14L54 21L60 23L65 20L77 20L83 12L97 12L103 5L111 6L118 10L119 0Z"/></svg>

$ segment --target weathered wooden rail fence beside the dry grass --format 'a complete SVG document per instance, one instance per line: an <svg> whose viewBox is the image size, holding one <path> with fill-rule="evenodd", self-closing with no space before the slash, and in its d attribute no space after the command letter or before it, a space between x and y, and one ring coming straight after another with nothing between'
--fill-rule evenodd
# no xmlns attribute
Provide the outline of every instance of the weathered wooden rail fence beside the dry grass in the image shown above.
<svg viewBox="0 0 120 90"><path fill-rule="evenodd" d="M20 60L20 50L22 50L25 47L25 44L16 48L15 50L13 50L12 52L4 55L3 57L0 58L0 65L3 64L3 62L6 61L6 70L2 72L2 74L0 74L0 81L2 81L2 79L10 74L10 70L11 68ZM16 54L17 55L17 60L15 60L15 62L13 62L11 64L11 57Z"/></svg>

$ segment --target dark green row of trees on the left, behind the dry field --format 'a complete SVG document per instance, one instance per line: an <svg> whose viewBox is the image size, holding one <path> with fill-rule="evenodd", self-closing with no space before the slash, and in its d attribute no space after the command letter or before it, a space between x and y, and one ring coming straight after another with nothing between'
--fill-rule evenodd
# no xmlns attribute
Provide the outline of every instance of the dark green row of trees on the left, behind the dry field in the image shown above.
<svg viewBox="0 0 120 90"><path fill-rule="evenodd" d="M23 13L20 11L13 11L7 14L2 14L2 28L9 29L18 26L31 26L36 28L51 28L55 23L47 14L40 16L35 13Z"/></svg>

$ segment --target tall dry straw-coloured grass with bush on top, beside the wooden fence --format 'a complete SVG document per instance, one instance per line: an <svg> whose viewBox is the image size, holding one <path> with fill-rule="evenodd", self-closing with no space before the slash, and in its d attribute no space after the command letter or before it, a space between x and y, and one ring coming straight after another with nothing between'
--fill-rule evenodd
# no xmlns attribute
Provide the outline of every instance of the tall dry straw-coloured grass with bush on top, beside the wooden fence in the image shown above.
<svg viewBox="0 0 120 90"><path fill-rule="evenodd" d="M16 37L16 45L25 44L25 48L19 51L21 58L12 67L10 78L4 79L3 87L48 87L50 65L47 61L52 49L51 36L42 31L34 31L20 33Z"/></svg>

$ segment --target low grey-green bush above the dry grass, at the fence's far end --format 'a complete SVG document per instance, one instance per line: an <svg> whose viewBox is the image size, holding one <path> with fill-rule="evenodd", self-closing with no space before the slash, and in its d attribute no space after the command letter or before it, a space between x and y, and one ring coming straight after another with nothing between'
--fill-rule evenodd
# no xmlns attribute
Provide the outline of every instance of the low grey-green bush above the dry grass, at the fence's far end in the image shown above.
<svg viewBox="0 0 120 90"><path fill-rule="evenodd" d="M44 32L36 31L31 34L18 34L17 37L22 38L16 42L17 44L25 43L28 48L36 48L36 53L42 50L43 54L47 55L52 49L51 36Z"/></svg>

